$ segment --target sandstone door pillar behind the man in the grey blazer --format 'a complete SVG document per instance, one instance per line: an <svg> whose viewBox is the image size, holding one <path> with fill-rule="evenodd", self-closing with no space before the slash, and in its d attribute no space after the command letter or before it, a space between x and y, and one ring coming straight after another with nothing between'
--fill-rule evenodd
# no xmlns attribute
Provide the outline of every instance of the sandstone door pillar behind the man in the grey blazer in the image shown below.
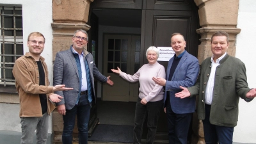
<svg viewBox="0 0 256 144"><path fill-rule="evenodd" d="M52 60L59 51L70 48L72 36L77 29L88 31L90 4L94 0L52 0L52 19L53 29L52 40ZM53 143L62 143L61 136L63 131L62 115L55 111L52 113L52 127L54 131ZM74 129L74 143L77 142L77 127Z"/></svg>

